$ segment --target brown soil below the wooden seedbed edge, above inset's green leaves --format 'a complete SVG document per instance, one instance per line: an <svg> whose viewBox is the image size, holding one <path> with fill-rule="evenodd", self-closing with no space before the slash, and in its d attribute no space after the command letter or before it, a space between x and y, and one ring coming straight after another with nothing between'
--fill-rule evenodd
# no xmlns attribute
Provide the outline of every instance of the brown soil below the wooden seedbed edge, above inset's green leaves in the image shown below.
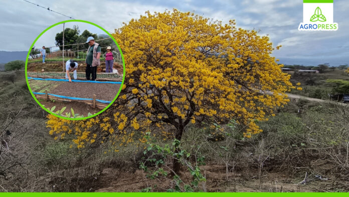
<svg viewBox="0 0 349 197"><path fill-rule="evenodd" d="M76 102L76 101L72 101L72 102L64 102L64 101L45 101L40 99L39 102L41 103L41 105L44 105L45 108L52 108L54 106L56 106L54 111L58 111L61 110L64 107L67 107L65 109L65 111L62 113L62 115L65 115L65 113L70 113L71 114L71 108L73 108L74 113L75 114L79 114L79 116L84 115L84 117L88 116L88 113L91 114L95 114L98 113L99 111L101 111L101 109L93 109L92 107L90 107L89 105L82 103L82 102Z"/></svg>

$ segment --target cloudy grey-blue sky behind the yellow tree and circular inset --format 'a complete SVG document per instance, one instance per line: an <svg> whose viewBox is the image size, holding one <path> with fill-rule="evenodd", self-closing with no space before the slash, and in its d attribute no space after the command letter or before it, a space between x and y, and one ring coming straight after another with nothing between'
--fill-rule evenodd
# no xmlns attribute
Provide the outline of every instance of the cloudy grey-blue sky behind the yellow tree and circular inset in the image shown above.
<svg viewBox="0 0 349 197"><path fill-rule="evenodd" d="M298 25L303 20L302 0L28 1L75 19L98 24L108 32L114 32L114 29L122 26L122 22L138 19L145 11L163 12L173 8L223 23L235 19L238 27L259 30L260 35L270 37L274 46L282 45L280 50L273 53L281 63L349 64L349 4L345 0L334 0L333 22L338 23L339 28L327 32L298 31ZM69 20L23 0L1 0L0 17L2 51L28 51L42 31L55 23ZM80 30L84 29L80 27Z"/></svg>

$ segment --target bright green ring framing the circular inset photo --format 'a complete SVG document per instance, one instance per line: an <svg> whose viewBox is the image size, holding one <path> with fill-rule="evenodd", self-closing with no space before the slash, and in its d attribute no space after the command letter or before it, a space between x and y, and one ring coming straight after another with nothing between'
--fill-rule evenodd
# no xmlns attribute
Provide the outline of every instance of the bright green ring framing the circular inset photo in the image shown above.
<svg viewBox="0 0 349 197"><path fill-rule="evenodd" d="M116 96L114 97L113 101L110 102L110 104L105 107L103 110L101 110L100 112L92 115L92 116L88 116L88 117L83 117L83 118L67 118L67 117L63 117L63 116L59 116L55 113L52 113L50 112L49 110L47 110L43 105L40 104L40 102L36 99L32 89L30 88L30 85L29 85L29 82L28 82L28 73L27 73L27 65L28 65L28 59L29 59L29 54L30 52L32 51L32 48L34 46L34 44L36 43L36 41L41 37L41 35L43 35L45 32L47 32L49 29L57 26L57 25L60 25L60 24L63 24L63 23L68 23L68 22L82 22L82 23L88 23L88 24L91 24L91 25L94 25L96 27L98 27L99 29L103 30L107 35L109 35L111 37L111 39L113 39L113 41L115 42L116 46L118 47L119 51L120 51L120 54L121 54L121 59L122 59L122 66L123 66L123 73L122 73L122 82L121 82L121 86L119 88L119 91L117 92ZM62 22L59 22L59 23L56 23L54 25L51 25L50 27L48 27L47 29L45 29L43 32L41 32L41 34L39 34L39 36L34 40L32 46L30 47L29 51L28 51L28 54L27 54L27 59L26 59L26 67L25 67L25 70L26 70L26 82L27 82L27 85L28 85L28 88L29 88L29 91L30 93L32 94L34 100L39 104L39 106L41 108L43 108L46 112L48 112L49 114L52 114L58 118L62 118L62 119L66 119L66 120L73 120L73 121L78 121L78 120L86 120L86 119L89 119L89 118L92 118L92 117L95 117L99 114L101 114L102 112L104 112L105 110L107 110L114 102L115 100L117 99L118 95L120 94L121 92L121 89L122 89L122 86L123 86L123 83L124 83L124 80L125 80L125 60L124 60L124 57L123 57L123 54L122 54L122 51L120 49L120 46L119 44L116 42L116 40L114 39L114 37L109 33L107 32L105 29L103 29L102 27L100 27L99 25L97 24L94 24L94 23L91 23L89 21L83 21L83 20L67 20L67 21L62 21Z"/></svg>

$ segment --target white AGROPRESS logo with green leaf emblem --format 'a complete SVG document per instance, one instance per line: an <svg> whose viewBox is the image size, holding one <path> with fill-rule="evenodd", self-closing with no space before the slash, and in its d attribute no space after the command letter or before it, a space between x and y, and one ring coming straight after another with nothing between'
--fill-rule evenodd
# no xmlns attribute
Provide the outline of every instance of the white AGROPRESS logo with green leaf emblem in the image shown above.
<svg viewBox="0 0 349 197"><path fill-rule="evenodd" d="M336 31L333 23L333 0L303 0L303 23L299 31Z"/></svg>

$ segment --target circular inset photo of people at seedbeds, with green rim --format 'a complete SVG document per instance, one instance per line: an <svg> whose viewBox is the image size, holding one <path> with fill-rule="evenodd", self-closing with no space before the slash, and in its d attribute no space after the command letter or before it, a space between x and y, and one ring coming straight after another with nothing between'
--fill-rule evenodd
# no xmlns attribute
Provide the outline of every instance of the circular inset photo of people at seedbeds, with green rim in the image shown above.
<svg viewBox="0 0 349 197"><path fill-rule="evenodd" d="M97 116L116 100L125 63L115 39L88 21L54 24L33 42L26 80L35 101L68 120Z"/></svg>

